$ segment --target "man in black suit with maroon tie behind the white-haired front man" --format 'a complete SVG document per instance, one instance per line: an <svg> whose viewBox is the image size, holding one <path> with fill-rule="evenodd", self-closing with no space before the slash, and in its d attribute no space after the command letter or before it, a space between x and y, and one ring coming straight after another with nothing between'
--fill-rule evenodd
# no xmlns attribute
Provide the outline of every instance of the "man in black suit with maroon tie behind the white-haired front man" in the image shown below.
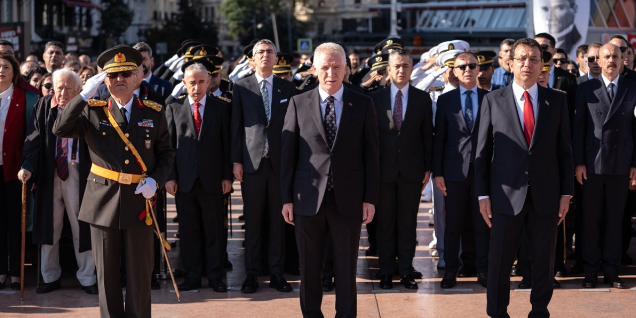
<svg viewBox="0 0 636 318"><path fill-rule="evenodd" d="M387 66L391 85L370 94L382 154L375 223L383 289L393 287L396 269L404 287L418 289L411 266L422 188L431 177L432 102L429 94L409 84L412 71L411 55L393 50Z"/></svg>

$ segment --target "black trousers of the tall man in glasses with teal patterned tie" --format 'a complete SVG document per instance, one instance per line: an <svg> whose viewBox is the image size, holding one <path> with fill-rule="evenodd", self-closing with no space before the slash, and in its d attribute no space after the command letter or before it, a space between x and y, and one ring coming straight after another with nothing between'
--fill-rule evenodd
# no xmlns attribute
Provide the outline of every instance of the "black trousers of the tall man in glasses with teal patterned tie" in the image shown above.
<svg viewBox="0 0 636 318"><path fill-rule="evenodd" d="M258 275L261 267L261 240L268 240L270 273L283 273L285 265L285 221L280 203L280 177L272 161L263 158L258 170L244 174L241 190L245 215L245 273ZM268 222L269 235L263 237L262 224Z"/></svg>

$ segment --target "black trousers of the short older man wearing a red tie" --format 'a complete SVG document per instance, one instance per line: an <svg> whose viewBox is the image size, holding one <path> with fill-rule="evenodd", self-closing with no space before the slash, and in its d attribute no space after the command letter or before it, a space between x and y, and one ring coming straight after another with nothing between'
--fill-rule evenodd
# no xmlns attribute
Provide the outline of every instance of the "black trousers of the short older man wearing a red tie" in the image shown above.
<svg viewBox="0 0 636 318"><path fill-rule="evenodd" d="M199 178L188 193L177 192L179 248L184 277L201 280L202 262L208 279L220 279L225 264L223 194L207 193Z"/></svg>

